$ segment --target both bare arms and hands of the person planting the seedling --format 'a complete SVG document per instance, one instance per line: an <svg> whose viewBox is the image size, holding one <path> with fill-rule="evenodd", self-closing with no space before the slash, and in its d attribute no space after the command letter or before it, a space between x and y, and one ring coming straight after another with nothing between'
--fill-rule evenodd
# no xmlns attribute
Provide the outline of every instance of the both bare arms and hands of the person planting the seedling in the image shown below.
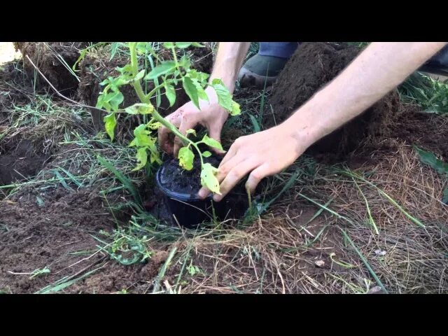
<svg viewBox="0 0 448 336"><path fill-rule="evenodd" d="M214 195L214 200L221 201L246 175L246 188L254 193L262 179L292 165L309 146L363 113L446 44L370 43L339 76L281 125L240 137L232 144L218 167L221 195ZM230 92L235 90L237 73L249 45L246 42L219 45L211 78L221 78ZM198 124L204 125L210 137L220 141L228 113L218 106L216 96L211 95L210 103L202 104L202 111L188 103L167 118L182 132ZM159 141L167 153L176 153L181 146L179 141L173 143L166 129L161 130ZM202 198L209 194L207 188L199 191Z"/></svg>

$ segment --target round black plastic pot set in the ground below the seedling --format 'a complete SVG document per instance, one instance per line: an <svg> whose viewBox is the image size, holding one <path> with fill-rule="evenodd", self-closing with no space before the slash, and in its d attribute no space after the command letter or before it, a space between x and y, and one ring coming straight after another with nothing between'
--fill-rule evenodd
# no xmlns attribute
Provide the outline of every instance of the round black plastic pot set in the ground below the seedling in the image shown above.
<svg viewBox="0 0 448 336"><path fill-rule="evenodd" d="M166 167L169 162L165 162L155 174L155 181L158 188L165 196L165 203L171 212L174 221L186 228L195 228L204 221L211 221L214 216L223 220L232 209L232 200L226 197L221 202L214 202L212 197L206 200L200 199L197 193L177 193L167 188L172 176L166 174ZM199 191L199 190L197 190Z"/></svg>

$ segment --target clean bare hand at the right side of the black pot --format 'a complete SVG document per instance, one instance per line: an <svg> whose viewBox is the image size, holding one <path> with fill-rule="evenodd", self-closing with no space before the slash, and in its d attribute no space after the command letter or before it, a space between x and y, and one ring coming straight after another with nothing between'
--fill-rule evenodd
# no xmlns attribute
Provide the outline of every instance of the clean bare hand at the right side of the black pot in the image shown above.
<svg viewBox="0 0 448 336"><path fill-rule="evenodd" d="M277 174L292 165L307 146L297 139L297 134L290 128L288 123L283 123L237 139L218 167L222 195L214 195L214 201L221 201L246 174L250 173L246 189L253 194L266 176ZM203 199L209 194L210 190L205 187L198 193Z"/></svg>

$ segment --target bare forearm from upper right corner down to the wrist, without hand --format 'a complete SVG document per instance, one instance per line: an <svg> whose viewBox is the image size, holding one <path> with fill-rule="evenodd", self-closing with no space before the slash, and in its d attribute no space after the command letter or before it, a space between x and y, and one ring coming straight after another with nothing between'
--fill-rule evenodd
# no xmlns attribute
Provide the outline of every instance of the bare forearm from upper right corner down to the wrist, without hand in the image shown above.
<svg viewBox="0 0 448 336"><path fill-rule="evenodd" d="M358 116L402 83L446 43L369 45L335 80L284 123L306 149Z"/></svg>

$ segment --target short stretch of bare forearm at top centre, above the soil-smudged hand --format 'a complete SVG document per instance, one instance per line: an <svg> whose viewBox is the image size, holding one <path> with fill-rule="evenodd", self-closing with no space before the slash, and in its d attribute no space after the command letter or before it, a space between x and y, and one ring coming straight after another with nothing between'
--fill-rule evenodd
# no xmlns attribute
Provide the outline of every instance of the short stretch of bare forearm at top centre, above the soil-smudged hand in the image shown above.
<svg viewBox="0 0 448 336"><path fill-rule="evenodd" d="M250 42L220 42L210 80L222 79L228 90L233 92L238 71L250 45Z"/></svg>

